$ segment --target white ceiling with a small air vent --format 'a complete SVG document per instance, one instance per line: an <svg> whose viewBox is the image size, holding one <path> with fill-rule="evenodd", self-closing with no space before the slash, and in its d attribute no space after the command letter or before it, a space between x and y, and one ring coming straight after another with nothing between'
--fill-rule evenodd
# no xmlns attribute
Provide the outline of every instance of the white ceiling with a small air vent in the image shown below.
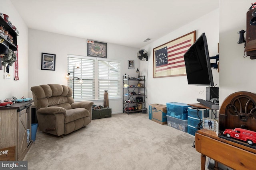
<svg viewBox="0 0 256 170"><path fill-rule="evenodd" d="M219 5L218 0L11 2L29 28L137 48L217 9ZM147 38L151 40L143 42Z"/></svg>

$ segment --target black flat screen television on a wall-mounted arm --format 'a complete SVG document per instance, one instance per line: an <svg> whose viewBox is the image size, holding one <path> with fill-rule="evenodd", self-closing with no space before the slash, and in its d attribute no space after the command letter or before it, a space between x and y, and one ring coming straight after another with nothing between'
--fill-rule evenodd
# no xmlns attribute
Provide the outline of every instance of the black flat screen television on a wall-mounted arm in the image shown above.
<svg viewBox="0 0 256 170"><path fill-rule="evenodd" d="M214 86L205 33L184 54L188 84Z"/></svg>

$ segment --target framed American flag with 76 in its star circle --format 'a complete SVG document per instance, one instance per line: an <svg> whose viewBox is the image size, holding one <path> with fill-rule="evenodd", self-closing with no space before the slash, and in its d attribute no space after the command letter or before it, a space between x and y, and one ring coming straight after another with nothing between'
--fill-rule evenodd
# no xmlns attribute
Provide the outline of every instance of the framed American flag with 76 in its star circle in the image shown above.
<svg viewBox="0 0 256 170"><path fill-rule="evenodd" d="M153 49L153 78L185 76L183 55L196 41L196 31L178 37Z"/></svg>

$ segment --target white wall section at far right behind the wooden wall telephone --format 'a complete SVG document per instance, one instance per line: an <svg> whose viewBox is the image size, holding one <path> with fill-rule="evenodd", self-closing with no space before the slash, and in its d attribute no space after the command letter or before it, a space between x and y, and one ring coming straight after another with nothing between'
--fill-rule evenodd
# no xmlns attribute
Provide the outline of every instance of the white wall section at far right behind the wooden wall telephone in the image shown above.
<svg viewBox="0 0 256 170"><path fill-rule="evenodd" d="M256 60L244 58L244 44L238 44L246 30L246 12L254 1L220 1L220 101L238 91L256 92ZM246 35L246 33L244 34Z"/></svg>

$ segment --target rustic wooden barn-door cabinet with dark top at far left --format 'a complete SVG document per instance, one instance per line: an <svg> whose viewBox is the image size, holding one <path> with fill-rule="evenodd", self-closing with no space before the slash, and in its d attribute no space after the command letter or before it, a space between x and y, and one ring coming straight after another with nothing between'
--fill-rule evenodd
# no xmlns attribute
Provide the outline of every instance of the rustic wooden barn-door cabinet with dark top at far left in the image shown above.
<svg viewBox="0 0 256 170"><path fill-rule="evenodd" d="M32 102L0 107L0 149L15 146L15 160L18 161L23 160L31 146Z"/></svg>

